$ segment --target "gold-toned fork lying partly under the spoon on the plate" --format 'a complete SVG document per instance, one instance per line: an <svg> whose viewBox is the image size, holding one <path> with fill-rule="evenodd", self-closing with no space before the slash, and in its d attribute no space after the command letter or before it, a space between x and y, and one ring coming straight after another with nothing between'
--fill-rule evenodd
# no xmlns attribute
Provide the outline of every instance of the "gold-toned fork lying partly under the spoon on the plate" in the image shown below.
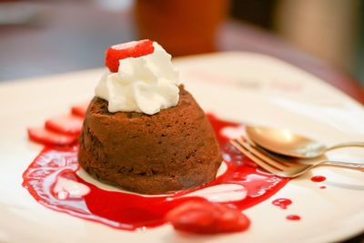
<svg viewBox="0 0 364 243"><path fill-rule="evenodd" d="M244 140L243 140L244 139ZM364 165L358 163L339 162L339 161L326 161L322 159L309 159L309 163L301 163L298 161L290 161L284 157L273 155L267 150L258 147L248 137L238 138L231 140L230 143L236 147L240 152L249 157L259 167L263 167L270 173L279 177L298 177L309 169L318 166L334 166L357 169L364 171Z"/></svg>

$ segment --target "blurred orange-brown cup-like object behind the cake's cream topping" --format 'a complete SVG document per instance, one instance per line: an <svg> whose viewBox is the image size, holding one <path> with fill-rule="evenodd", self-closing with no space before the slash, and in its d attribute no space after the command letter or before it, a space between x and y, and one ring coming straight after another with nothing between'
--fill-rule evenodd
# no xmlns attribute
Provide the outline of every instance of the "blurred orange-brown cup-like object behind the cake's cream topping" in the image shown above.
<svg viewBox="0 0 364 243"><path fill-rule="evenodd" d="M228 0L136 0L140 38L157 41L172 56L216 50L218 25Z"/></svg>

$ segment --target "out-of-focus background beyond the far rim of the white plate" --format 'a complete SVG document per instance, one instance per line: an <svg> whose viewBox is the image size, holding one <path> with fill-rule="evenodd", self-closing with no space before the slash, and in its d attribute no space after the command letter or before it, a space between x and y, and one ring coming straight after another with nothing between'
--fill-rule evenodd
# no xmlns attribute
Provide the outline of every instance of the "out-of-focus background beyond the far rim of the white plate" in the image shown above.
<svg viewBox="0 0 364 243"><path fill-rule="evenodd" d="M361 0L0 0L0 81L104 66L108 46L146 37L174 56L255 51L364 86Z"/></svg>

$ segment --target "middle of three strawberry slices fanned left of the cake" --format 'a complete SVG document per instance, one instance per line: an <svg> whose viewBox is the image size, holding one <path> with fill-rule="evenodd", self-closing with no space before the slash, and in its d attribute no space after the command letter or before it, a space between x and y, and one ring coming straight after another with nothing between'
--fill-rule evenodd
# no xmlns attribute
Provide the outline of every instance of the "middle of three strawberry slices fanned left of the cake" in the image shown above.
<svg viewBox="0 0 364 243"><path fill-rule="evenodd" d="M58 133L77 135L81 133L84 119L80 116L55 116L45 121L45 128Z"/></svg>

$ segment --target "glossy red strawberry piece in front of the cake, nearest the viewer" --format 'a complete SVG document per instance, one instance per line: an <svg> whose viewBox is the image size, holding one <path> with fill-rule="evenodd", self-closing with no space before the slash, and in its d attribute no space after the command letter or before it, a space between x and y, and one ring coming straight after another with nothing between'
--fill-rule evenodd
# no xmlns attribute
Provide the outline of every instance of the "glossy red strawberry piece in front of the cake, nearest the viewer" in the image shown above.
<svg viewBox="0 0 364 243"><path fill-rule="evenodd" d="M208 201L187 201L167 213L177 230L197 234L218 234L246 230L250 220L239 210Z"/></svg>

